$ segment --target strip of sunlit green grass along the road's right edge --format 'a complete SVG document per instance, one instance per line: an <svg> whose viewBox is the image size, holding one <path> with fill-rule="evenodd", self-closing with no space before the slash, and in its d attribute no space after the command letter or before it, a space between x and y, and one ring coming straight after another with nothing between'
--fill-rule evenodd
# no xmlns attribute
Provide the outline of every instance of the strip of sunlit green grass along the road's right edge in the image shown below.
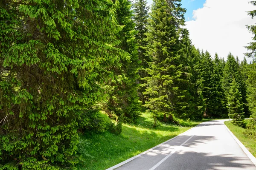
<svg viewBox="0 0 256 170"><path fill-rule="evenodd" d="M247 121L247 120L245 120ZM233 125L230 121L224 122L230 131L244 144L244 146L256 157L256 142L254 139L248 138L244 135L245 129L236 125Z"/></svg>

